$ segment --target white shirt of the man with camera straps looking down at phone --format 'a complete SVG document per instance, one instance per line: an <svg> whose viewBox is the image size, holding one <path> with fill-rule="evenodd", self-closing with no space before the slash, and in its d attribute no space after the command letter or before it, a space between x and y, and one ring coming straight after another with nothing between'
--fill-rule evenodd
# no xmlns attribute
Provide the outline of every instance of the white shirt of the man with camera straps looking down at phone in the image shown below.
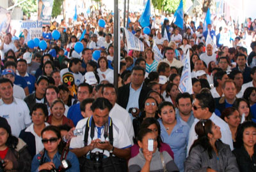
<svg viewBox="0 0 256 172"><path fill-rule="evenodd" d="M74 138L71 139L70 142L70 148L82 148L84 147L84 133L85 133L85 125L87 125L87 120L88 118L83 118L82 120L79 120L79 122L76 125L76 129L82 129L83 128L83 134L80 136L76 136ZM113 122L113 147L116 148L129 148L131 147L131 141L128 139L129 136L125 130L124 124L116 119L116 118L112 118L112 122ZM103 132L102 132L103 130ZM90 145L92 138L90 137L90 133L91 133L91 127L88 131L88 144ZM94 133L94 137L93 140L96 140L97 137L97 132L98 129L97 127L95 127L95 133ZM100 130L101 134L100 134L100 140L101 141L105 141L104 138L104 128ZM102 150L98 149L98 148L94 148L92 150L92 152L102 152ZM89 153L89 152L88 152ZM109 156L109 152L107 150L104 151L104 155Z"/></svg>

